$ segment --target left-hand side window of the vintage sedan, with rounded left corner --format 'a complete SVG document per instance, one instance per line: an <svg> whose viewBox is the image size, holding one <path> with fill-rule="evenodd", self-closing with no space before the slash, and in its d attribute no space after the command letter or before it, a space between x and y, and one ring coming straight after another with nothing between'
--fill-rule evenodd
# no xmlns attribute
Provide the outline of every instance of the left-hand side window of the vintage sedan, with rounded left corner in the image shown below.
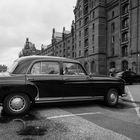
<svg viewBox="0 0 140 140"><path fill-rule="evenodd" d="M60 74L59 64L57 62L37 62L31 69L31 74Z"/></svg>

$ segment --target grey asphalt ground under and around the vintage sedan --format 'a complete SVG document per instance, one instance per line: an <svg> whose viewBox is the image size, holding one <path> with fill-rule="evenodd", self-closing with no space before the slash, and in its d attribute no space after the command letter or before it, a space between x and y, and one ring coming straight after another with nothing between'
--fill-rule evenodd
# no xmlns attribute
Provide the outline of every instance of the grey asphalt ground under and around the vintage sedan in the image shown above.
<svg viewBox="0 0 140 140"><path fill-rule="evenodd" d="M140 140L140 85L107 107L102 100L36 105L29 114L1 111L0 140Z"/></svg>

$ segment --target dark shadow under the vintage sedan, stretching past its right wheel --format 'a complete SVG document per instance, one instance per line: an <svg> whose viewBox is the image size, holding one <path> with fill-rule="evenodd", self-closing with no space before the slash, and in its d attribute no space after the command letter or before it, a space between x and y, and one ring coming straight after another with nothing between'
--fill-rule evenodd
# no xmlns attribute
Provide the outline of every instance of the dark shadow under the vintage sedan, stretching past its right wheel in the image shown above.
<svg viewBox="0 0 140 140"><path fill-rule="evenodd" d="M130 103L124 102L122 100L119 100L119 103L114 106L110 107L106 105L104 100L93 100L93 101L78 101L78 102L63 102L63 103L44 103L44 104L36 104L33 107L33 110L44 110L44 109L52 109L52 108L61 108L61 109L68 109L68 108L82 108L82 107L101 107L109 110L123 110L123 109L129 109L134 108L134 106Z"/></svg>

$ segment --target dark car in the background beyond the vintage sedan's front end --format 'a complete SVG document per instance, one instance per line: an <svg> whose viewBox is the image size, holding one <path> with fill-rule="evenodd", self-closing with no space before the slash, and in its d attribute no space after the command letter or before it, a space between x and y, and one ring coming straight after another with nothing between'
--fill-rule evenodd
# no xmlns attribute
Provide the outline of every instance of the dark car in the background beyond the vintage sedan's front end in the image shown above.
<svg viewBox="0 0 140 140"><path fill-rule="evenodd" d="M140 75L133 71L122 71L116 74L116 77L120 77L125 80L126 84L140 83Z"/></svg>

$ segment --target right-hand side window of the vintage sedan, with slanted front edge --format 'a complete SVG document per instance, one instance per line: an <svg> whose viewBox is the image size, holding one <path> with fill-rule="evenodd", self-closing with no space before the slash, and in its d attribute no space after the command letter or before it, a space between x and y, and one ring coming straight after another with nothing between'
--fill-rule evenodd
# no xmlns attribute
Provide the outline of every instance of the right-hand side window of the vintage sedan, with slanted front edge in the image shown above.
<svg viewBox="0 0 140 140"><path fill-rule="evenodd" d="M63 75L85 75L81 65L78 63L63 63Z"/></svg>

